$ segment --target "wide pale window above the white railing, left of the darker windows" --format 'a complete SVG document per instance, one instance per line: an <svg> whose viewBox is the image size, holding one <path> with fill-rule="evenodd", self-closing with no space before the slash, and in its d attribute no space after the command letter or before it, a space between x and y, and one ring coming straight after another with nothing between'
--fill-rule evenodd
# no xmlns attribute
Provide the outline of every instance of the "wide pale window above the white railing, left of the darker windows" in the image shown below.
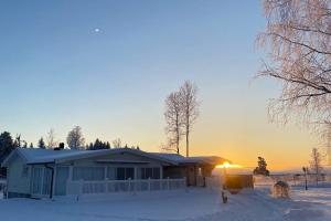
<svg viewBox="0 0 331 221"><path fill-rule="evenodd" d="M104 167L74 167L73 180L104 180Z"/></svg>

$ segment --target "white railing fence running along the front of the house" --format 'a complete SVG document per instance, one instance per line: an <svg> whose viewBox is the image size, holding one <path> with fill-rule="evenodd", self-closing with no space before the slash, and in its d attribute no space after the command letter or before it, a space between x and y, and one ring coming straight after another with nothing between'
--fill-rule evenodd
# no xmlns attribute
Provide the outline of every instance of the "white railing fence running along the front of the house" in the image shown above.
<svg viewBox="0 0 331 221"><path fill-rule="evenodd" d="M186 188L186 179L68 181L67 194L161 191Z"/></svg>

